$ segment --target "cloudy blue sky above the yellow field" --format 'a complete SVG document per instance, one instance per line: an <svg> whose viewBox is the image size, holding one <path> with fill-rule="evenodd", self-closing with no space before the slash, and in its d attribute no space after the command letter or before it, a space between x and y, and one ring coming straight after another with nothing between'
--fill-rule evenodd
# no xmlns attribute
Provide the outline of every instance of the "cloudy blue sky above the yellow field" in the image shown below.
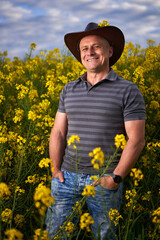
<svg viewBox="0 0 160 240"><path fill-rule="evenodd" d="M63 49L66 33L102 20L119 27L126 42L160 43L159 0L0 0L0 51L23 58L32 42L36 53Z"/></svg>

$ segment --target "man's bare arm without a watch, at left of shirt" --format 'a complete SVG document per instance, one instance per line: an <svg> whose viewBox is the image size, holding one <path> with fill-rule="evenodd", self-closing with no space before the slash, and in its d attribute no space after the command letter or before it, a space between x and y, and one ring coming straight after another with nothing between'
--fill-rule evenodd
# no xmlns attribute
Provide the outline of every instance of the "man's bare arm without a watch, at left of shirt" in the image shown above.
<svg viewBox="0 0 160 240"><path fill-rule="evenodd" d="M64 182L61 164L66 146L66 134L67 115L65 113L57 112L54 126L50 134L49 155L54 166L52 177L59 178L61 182Z"/></svg>

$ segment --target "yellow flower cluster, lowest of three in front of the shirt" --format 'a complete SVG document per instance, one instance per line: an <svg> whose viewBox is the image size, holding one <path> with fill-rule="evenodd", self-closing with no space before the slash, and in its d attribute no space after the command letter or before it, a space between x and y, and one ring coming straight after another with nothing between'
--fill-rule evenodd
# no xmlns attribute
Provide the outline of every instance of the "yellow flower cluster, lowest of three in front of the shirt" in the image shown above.
<svg viewBox="0 0 160 240"><path fill-rule="evenodd" d="M89 153L90 157L93 157L91 163L93 168L99 169L100 166L103 166L104 163L104 153L100 147L94 148L92 152Z"/></svg>

